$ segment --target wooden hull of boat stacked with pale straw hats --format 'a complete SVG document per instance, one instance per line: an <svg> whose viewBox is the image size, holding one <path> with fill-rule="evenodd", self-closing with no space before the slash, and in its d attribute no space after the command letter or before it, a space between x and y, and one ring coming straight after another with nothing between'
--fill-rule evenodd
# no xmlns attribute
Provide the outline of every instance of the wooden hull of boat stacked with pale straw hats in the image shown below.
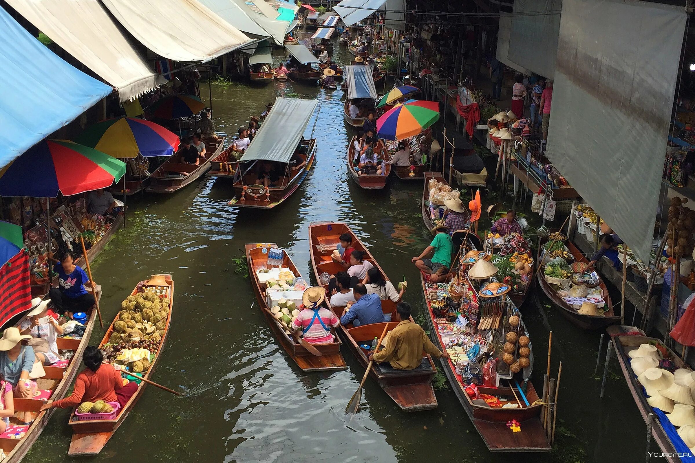
<svg viewBox="0 0 695 463"><path fill-rule="evenodd" d="M657 339L655 337L646 337L644 336L644 332L640 332L641 335L636 335L633 332L630 335L621 336L622 332L625 332L625 334L627 334L626 331L630 330L628 329L628 327L617 325L608 327L607 331L615 347L618 362L620 364L620 368L623 370L623 376L625 376L625 380L628 382L628 387L630 388L632 398L635 399L635 403L637 404L637 408L639 409L639 414L641 414L642 419L644 419L645 423L649 421L649 414L653 414L652 436L654 437L654 440L663 452L662 456L664 457L664 460L666 460L669 463L680 463L681 460L678 457L678 450L673 445L673 441L671 441L671 439L669 439L669 436L666 434L666 431L664 430L664 425L662 425L659 416L653 411L651 405L649 405L649 403L647 402L647 398L646 396L644 396L644 387L637 380L637 376L635 376L635 373L632 371L632 367L630 367L631 359L628 356L628 352L636 348L639 348L640 344L654 344L660 350L664 349L664 351L667 352L667 355L664 355L664 358L669 358L673 360L673 363L675 364L676 368L691 368L687 364L685 364L685 362L683 362L680 359L680 357L676 355L676 353L671 351L671 349L669 349L663 342L661 342L660 339ZM667 426L671 425L671 423L665 424Z"/></svg>

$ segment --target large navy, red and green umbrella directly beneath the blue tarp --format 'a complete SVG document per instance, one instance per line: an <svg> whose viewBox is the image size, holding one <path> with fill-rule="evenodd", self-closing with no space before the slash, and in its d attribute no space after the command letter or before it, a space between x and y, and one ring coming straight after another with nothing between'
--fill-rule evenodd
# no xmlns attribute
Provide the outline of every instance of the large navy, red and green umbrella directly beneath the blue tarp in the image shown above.
<svg viewBox="0 0 695 463"><path fill-rule="evenodd" d="M123 161L68 140L44 140L0 170L0 196L55 198L106 188L126 172Z"/></svg>

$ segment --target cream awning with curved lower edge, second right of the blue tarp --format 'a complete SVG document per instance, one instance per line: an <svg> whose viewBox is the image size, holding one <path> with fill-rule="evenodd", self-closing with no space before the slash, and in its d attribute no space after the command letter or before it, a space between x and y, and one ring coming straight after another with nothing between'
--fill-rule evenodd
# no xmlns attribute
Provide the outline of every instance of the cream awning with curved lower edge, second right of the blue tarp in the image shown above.
<svg viewBox="0 0 695 463"><path fill-rule="evenodd" d="M175 61L209 61L251 39L197 0L101 0L145 47ZM104 37L102 40L108 40Z"/></svg>

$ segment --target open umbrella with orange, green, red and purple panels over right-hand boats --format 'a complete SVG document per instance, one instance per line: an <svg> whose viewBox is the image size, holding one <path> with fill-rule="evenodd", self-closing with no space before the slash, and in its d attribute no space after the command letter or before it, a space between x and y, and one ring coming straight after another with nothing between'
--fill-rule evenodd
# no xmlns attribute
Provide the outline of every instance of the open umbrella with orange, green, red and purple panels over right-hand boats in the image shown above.
<svg viewBox="0 0 695 463"><path fill-rule="evenodd" d="M377 119L377 133L386 140L403 140L418 135L438 119L438 102L408 100Z"/></svg>

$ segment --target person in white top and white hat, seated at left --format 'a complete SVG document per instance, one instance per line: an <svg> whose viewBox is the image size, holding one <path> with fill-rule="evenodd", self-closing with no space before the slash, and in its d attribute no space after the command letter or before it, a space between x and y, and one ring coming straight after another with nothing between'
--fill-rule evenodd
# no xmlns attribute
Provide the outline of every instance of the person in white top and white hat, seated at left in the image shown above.
<svg viewBox="0 0 695 463"><path fill-rule="evenodd" d="M42 301L37 297L31 303L33 308L19 322L19 330L22 335L30 335L33 338L31 347L36 359L44 365L52 365L60 360L57 339L63 334L63 327L48 314L51 299Z"/></svg>

